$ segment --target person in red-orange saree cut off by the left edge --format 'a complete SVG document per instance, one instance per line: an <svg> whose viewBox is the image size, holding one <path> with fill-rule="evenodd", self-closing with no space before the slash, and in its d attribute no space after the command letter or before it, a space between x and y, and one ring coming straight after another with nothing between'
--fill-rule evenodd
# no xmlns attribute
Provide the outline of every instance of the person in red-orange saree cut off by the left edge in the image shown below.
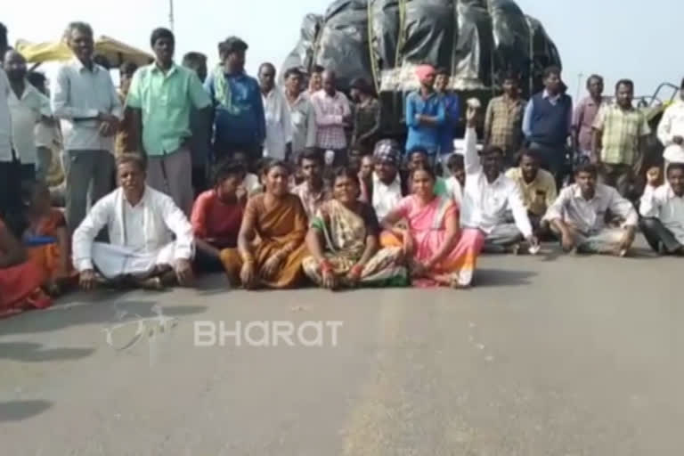
<svg viewBox="0 0 684 456"><path fill-rule="evenodd" d="M52 304L40 288L43 274L0 220L0 318Z"/></svg>

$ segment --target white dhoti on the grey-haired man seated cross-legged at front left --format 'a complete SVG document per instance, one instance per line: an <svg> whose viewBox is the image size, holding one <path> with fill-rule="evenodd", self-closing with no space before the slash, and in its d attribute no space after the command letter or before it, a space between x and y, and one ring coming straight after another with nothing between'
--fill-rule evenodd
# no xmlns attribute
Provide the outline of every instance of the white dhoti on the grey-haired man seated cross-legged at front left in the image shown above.
<svg viewBox="0 0 684 456"><path fill-rule="evenodd" d="M144 277L157 266L172 266L175 258L175 242L157 250L138 250L125 246L94 242L91 257L93 265L107 279L122 275Z"/></svg>

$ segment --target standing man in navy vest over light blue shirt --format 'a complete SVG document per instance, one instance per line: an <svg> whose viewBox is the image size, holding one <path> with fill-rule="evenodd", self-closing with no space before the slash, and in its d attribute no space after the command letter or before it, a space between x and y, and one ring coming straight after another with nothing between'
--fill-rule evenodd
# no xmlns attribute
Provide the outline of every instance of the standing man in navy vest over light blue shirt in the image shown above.
<svg viewBox="0 0 684 456"><path fill-rule="evenodd" d="M567 138L573 126L573 99L563 90L558 67L544 70L545 89L527 103L523 117L523 133L530 150L537 151L542 167L556 178L558 187L563 180Z"/></svg>

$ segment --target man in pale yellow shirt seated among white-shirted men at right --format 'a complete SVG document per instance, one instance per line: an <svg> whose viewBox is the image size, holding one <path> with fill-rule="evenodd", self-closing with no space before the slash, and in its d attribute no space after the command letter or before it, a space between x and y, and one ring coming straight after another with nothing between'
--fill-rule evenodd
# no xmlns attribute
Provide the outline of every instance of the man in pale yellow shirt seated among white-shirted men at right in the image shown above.
<svg viewBox="0 0 684 456"><path fill-rule="evenodd" d="M540 169L540 159L537 152L524 150L520 155L518 167L512 167L506 176L517 183L523 195L523 203L527 209L527 216L535 231L539 231L542 217L546 209L553 204L558 196L556 180L553 175Z"/></svg>

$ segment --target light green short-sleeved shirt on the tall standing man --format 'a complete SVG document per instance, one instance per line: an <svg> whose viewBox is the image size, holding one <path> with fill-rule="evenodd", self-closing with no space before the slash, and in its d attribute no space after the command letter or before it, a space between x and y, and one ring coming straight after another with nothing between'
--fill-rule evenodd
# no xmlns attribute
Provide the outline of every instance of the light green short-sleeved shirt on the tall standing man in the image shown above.
<svg viewBox="0 0 684 456"><path fill-rule="evenodd" d="M142 146L150 156L180 149L191 137L191 108L210 104L195 72L176 64L166 74L156 63L135 71L126 98L126 106L142 110Z"/></svg>

